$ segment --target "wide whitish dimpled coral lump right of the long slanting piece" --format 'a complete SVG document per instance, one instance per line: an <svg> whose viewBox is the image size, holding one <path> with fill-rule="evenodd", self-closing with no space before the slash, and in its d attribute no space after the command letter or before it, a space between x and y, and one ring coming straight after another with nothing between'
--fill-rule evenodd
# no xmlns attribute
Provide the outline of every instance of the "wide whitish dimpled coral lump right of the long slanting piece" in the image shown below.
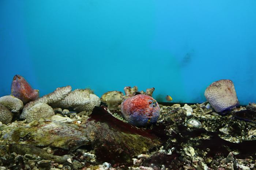
<svg viewBox="0 0 256 170"><path fill-rule="evenodd" d="M52 104L54 108L71 109L76 112L93 111L95 106L99 106L101 101L99 97L92 94L90 89L75 89L68 93L63 100Z"/></svg>

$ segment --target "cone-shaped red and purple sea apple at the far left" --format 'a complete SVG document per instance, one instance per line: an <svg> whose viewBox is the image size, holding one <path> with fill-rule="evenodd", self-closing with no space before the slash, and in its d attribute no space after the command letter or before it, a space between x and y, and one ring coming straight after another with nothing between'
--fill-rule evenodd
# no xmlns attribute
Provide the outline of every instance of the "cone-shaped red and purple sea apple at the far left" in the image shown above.
<svg viewBox="0 0 256 170"><path fill-rule="evenodd" d="M11 86L12 96L19 98L24 104L39 98L39 90L33 89L22 76L15 75Z"/></svg>

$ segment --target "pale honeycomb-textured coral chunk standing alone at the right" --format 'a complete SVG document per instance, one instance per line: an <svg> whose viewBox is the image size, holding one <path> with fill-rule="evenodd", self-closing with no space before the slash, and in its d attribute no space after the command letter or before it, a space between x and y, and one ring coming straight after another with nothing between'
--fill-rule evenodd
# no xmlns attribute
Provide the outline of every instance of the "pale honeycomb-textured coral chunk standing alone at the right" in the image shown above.
<svg viewBox="0 0 256 170"><path fill-rule="evenodd" d="M239 104L236 90L231 80L219 80L208 86L204 96L216 112L222 112Z"/></svg>

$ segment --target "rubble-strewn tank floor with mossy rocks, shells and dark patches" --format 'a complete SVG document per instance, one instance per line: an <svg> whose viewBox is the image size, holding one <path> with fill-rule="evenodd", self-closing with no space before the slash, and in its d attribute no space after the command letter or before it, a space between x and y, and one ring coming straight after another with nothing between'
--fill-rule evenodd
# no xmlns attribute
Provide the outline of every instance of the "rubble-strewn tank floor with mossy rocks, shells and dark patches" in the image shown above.
<svg viewBox="0 0 256 170"><path fill-rule="evenodd" d="M207 102L189 107L191 115L179 104L160 105L157 123L143 128L116 119L105 107L95 107L90 119L56 109L57 118L3 124L0 166L52 170L238 170L242 164L256 166L253 104L225 115L214 112ZM64 119L69 121L61 122ZM190 120L201 126L188 126Z"/></svg>

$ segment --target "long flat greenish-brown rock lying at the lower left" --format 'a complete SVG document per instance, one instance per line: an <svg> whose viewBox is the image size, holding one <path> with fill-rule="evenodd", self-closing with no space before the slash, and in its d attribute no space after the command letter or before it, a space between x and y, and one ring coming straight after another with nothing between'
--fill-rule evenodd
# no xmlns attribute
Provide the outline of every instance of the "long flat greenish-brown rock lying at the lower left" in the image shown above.
<svg viewBox="0 0 256 170"><path fill-rule="evenodd" d="M90 144L86 132L77 125L33 121L25 126L5 129L4 139L36 146L53 146L74 151L76 148ZM3 137L3 135L2 135ZM3 140L3 138L0 138ZM47 152L46 152L47 153Z"/></svg>

